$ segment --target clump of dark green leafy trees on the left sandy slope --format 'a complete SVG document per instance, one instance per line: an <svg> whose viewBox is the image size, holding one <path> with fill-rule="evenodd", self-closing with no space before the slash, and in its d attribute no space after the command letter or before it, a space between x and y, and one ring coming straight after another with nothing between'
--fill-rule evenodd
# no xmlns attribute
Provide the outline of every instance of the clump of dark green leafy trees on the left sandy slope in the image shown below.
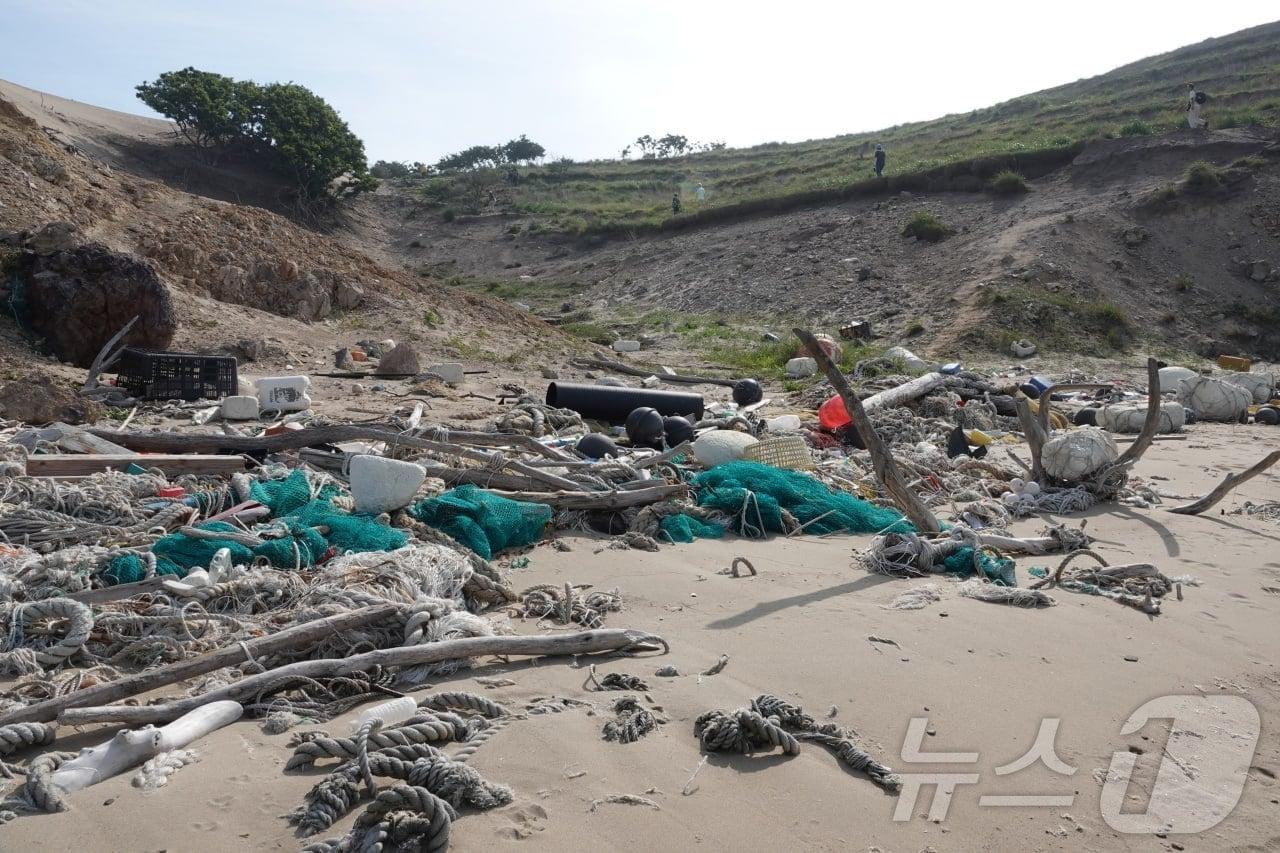
<svg viewBox="0 0 1280 853"><path fill-rule="evenodd" d="M303 201L372 188L365 143L323 97L297 83L238 81L196 68L165 72L138 99L214 159L236 151L287 175Z"/></svg>

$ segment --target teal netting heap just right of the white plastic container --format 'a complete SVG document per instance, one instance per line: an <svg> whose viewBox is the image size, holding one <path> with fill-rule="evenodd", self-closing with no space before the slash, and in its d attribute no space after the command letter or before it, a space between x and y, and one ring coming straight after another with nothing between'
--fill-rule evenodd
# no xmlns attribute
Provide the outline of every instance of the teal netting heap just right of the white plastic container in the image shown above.
<svg viewBox="0 0 1280 853"><path fill-rule="evenodd" d="M460 485L420 502L410 515L489 560L499 551L538 542L552 520L552 508Z"/></svg>

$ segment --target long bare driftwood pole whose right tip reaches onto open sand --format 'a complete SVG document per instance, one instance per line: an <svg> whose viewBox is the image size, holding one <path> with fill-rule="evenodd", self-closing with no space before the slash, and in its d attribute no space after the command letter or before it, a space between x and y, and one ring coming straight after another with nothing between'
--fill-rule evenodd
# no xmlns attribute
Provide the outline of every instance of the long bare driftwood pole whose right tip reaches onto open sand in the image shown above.
<svg viewBox="0 0 1280 853"><path fill-rule="evenodd" d="M623 628L602 628L575 634L545 637L467 637L422 646L383 648L346 658L321 658L287 663L266 672L250 675L227 686L200 695L146 707L68 708L59 716L67 725L88 722L168 722L210 702L234 699L243 702L257 697L262 688L283 679L325 679L365 672L375 666L419 666L468 657L493 654L591 654L596 652L655 651L667 643L660 637ZM74 694L73 694L74 695Z"/></svg>

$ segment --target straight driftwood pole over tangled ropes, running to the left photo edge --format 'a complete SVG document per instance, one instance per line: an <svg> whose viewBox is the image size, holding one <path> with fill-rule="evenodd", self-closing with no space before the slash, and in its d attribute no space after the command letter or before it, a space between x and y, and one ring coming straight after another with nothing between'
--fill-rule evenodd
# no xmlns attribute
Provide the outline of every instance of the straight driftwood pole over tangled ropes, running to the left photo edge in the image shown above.
<svg viewBox="0 0 1280 853"><path fill-rule="evenodd" d="M389 619L398 610L398 605L375 605L372 607L362 607L347 613L339 613L338 616L329 616L303 622L302 625L294 625L293 628L287 628L278 634L268 634L266 637L259 637L243 644L237 643L236 646L228 646L227 648L220 648L216 652L209 652L207 654L193 657L189 661L178 661L177 663L160 666L146 672L138 672L137 675L128 675L116 681L108 681L105 684L96 684L81 690L73 690L72 693L54 697L52 699L45 699L44 702L28 704L24 708L15 708L8 713L0 715L0 726L9 725L10 722L49 722L50 720L56 720L58 715L63 713L68 708L93 703L102 704L106 702L118 702L168 684L186 681L187 679L196 678L197 675L205 675L206 672L220 670L224 666L243 663L250 660L250 657L307 648L326 637L330 637L332 634ZM246 652L248 652L247 656Z"/></svg>

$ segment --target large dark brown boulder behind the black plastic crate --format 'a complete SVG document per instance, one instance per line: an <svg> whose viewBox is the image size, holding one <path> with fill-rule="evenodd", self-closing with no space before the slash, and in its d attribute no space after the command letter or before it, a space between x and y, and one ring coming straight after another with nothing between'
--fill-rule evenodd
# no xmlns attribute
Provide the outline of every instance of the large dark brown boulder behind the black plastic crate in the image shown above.
<svg viewBox="0 0 1280 853"><path fill-rule="evenodd" d="M155 270L99 243L23 255L18 282L19 321L59 359L82 368L134 316L129 345L164 350L178 329L169 288Z"/></svg>

